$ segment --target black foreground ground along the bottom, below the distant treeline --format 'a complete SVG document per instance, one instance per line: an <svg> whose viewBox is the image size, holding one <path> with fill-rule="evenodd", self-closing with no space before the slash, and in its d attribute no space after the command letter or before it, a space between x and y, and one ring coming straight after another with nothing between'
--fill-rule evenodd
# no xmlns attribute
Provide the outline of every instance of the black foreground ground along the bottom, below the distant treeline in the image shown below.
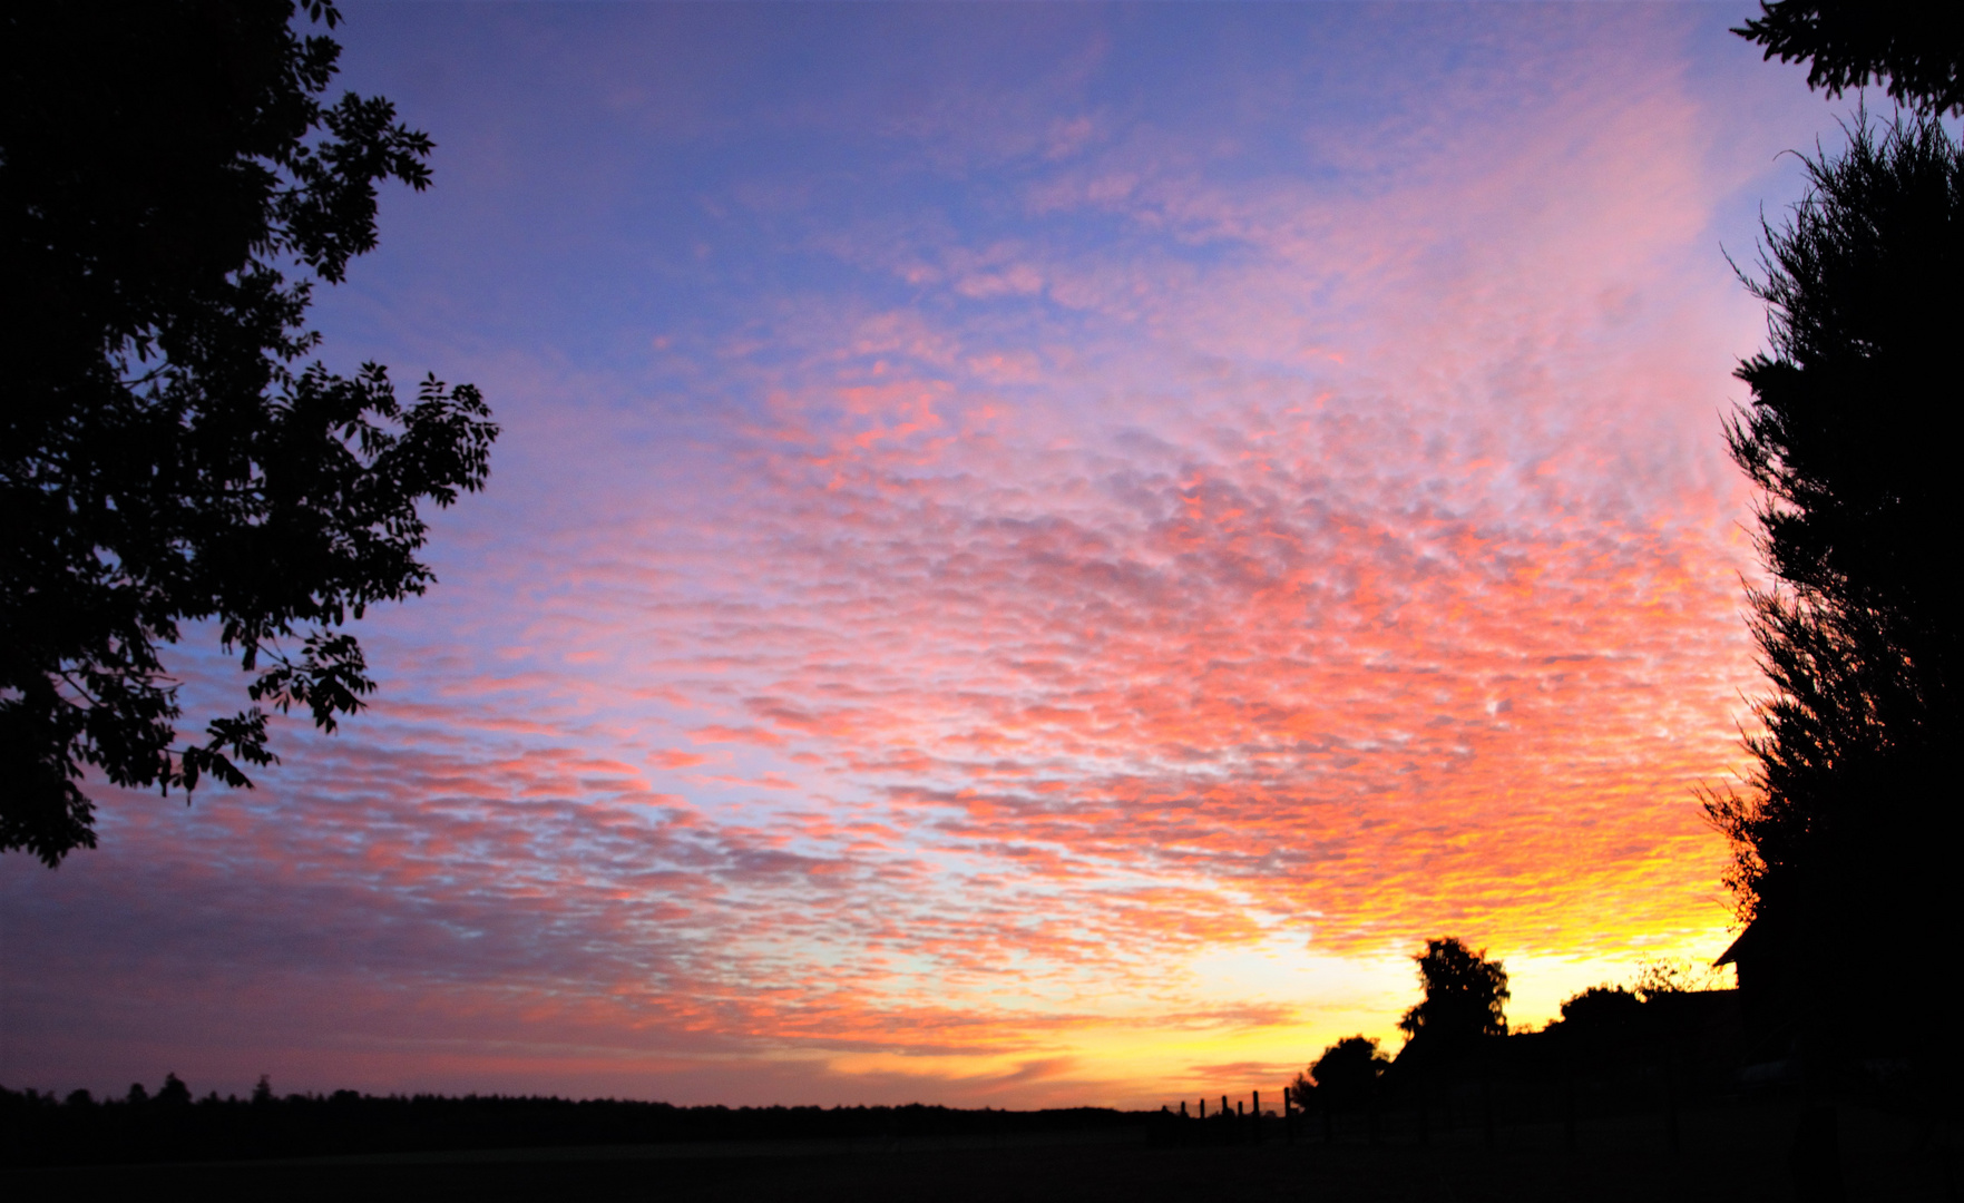
<svg viewBox="0 0 1964 1203"><path fill-rule="evenodd" d="M1059 1134L935 1142L750 1142L554 1148L293 1162L102 1166L0 1172L0 1197L37 1199L1795 1199L1789 1103L1681 1117L1679 1150L1658 1123L1477 1130L1424 1144L1269 1140L1237 1148L1149 1148L1143 1134ZM1946 1126L1840 1111L1850 1201L1958 1199Z"/></svg>

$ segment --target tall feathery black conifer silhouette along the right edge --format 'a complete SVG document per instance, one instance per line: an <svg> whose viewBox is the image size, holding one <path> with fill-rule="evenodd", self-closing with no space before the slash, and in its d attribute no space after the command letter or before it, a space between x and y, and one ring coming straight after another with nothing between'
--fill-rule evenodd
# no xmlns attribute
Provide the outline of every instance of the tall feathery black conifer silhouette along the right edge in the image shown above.
<svg viewBox="0 0 1964 1203"><path fill-rule="evenodd" d="M1773 966L1752 989L1817 1042L1846 1028L1856 993L1893 997L1883 1019L1903 1038L1911 1017L1940 1011L1921 966L1948 942L1964 834L1950 479L1964 157L1937 118L1880 133L1858 120L1846 153L1807 171L1807 198L1766 228L1764 275L1748 281L1772 312L1772 353L1738 369L1752 402L1728 426L1766 495L1775 585L1752 606L1773 693L1746 742L1746 793L1713 795L1707 812ZM1860 987L1815 969L1830 948L1864 950Z"/></svg>

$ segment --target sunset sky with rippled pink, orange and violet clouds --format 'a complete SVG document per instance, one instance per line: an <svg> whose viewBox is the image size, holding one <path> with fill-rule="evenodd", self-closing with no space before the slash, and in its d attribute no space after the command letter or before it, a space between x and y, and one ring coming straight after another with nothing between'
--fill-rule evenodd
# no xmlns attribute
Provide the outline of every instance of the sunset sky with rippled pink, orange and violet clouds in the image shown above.
<svg viewBox="0 0 1964 1203"><path fill-rule="evenodd" d="M1726 946L1726 253L1852 108L1744 4L342 8L438 149L322 353L491 483L340 734L0 858L0 1083L1157 1107Z"/></svg>

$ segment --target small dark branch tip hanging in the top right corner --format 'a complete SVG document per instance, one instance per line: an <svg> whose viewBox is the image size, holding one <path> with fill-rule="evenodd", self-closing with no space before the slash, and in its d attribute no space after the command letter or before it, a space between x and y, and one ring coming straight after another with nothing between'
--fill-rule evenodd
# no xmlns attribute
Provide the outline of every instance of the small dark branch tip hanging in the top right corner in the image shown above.
<svg viewBox="0 0 1964 1203"><path fill-rule="evenodd" d="M1964 6L1777 0L1732 29L1781 63L1809 63L1807 86L1840 96L1870 78L1919 112L1964 112Z"/></svg>

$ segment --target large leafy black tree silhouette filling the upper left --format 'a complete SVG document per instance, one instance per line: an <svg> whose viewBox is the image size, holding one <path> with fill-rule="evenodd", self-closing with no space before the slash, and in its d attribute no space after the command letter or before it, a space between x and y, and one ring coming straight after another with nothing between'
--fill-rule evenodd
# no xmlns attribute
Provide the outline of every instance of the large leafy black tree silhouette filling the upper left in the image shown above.
<svg viewBox="0 0 1964 1203"><path fill-rule="evenodd" d="M306 16L332 27L330 4ZM485 481L477 391L401 404L302 363L318 281L375 245L375 184L430 181L387 100L318 96L340 47L283 0L16 4L0 35L0 850L92 848L116 785L251 785L267 714L373 689L348 618L422 593L420 500ZM177 746L181 622L257 671Z"/></svg>

